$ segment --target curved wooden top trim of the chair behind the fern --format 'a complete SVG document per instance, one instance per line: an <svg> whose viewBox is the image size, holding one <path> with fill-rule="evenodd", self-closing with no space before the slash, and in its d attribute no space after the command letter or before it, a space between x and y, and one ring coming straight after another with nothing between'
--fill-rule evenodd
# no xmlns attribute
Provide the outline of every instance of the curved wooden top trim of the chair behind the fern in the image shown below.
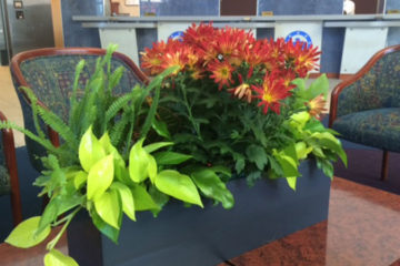
<svg viewBox="0 0 400 266"><path fill-rule="evenodd" d="M22 71L20 69L20 64L26 60L38 57L77 55L77 54L81 54L81 55L89 54L89 55L101 57L104 55L106 52L107 51L104 49L100 49L100 48L43 48L43 49L30 50L18 53L11 59L10 71L12 73L12 76L16 79L16 83L18 88L19 86L29 88L30 85L23 78ZM133 73L139 78L141 82L143 82L144 84L149 83L149 79L147 78L147 75L136 65L136 63L130 58L119 52L113 52L112 57L124 62L133 71ZM26 94L26 92L20 90L20 93L22 94L24 101L27 101L27 103L30 104L31 102L29 101L29 98ZM38 104L47 109L44 103L42 103L39 99L38 99ZM48 134L51 143L54 146L59 146L60 141L58 133L53 131L50 126L48 126Z"/></svg>

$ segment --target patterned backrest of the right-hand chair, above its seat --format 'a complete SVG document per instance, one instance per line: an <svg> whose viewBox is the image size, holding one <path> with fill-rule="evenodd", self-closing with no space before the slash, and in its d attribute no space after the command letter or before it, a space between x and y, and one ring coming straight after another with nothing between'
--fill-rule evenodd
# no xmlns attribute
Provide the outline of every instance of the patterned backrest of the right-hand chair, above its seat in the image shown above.
<svg viewBox="0 0 400 266"><path fill-rule="evenodd" d="M381 108L400 108L400 45L378 52L356 74L356 81L343 84L338 116Z"/></svg>

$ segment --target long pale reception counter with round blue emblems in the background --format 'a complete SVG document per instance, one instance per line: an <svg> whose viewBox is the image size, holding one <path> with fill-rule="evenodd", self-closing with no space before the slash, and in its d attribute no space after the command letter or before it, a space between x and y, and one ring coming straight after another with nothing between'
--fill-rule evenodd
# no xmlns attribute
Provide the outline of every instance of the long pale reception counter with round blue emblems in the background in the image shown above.
<svg viewBox="0 0 400 266"><path fill-rule="evenodd" d="M99 30L101 47L110 42L139 63L139 52L152 42L179 38L191 23L251 30L258 39L292 38L321 48L321 72L356 73L373 53L400 43L400 14L271 17L92 17L74 16L83 28Z"/></svg>

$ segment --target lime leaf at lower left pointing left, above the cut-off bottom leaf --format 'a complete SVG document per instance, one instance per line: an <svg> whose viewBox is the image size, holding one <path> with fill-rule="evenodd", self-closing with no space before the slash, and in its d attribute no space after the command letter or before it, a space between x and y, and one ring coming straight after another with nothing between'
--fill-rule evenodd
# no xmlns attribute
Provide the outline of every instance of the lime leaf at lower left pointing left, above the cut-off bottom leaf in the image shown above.
<svg viewBox="0 0 400 266"><path fill-rule="evenodd" d="M6 243L20 248L29 248L38 245L50 234L48 226L41 234L36 235L39 228L40 216L34 216L20 223L7 237Z"/></svg>

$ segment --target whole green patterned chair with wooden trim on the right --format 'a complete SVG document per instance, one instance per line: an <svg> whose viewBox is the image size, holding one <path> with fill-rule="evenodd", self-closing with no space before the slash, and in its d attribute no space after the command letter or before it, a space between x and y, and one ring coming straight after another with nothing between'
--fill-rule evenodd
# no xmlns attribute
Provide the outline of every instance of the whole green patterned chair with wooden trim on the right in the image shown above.
<svg viewBox="0 0 400 266"><path fill-rule="evenodd" d="M379 51L333 90L329 126L344 140L383 150L386 180L389 152L400 152L400 45Z"/></svg>

